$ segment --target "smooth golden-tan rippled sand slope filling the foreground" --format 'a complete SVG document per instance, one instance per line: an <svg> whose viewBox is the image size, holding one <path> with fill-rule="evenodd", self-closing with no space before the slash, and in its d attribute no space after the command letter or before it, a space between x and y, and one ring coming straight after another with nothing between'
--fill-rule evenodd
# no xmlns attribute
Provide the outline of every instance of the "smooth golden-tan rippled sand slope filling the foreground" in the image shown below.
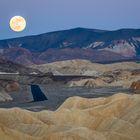
<svg viewBox="0 0 140 140"><path fill-rule="evenodd" d="M71 97L58 110L0 109L0 140L139 140L140 95Z"/></svg>

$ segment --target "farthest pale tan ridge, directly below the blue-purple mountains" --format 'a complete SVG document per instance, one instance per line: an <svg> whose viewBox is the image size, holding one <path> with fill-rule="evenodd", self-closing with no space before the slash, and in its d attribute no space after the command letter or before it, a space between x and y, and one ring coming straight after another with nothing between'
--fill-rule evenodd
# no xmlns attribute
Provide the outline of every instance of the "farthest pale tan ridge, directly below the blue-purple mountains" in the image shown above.
<svg viewBox="0 0 140 140"><path fill-rule="evenodd" d="M107 71L114 70L137 70L140 69L140 64L135 62L122 62L114 64L98 64L88 60L67 60L58 61L49 64L33 65L35 69L42 72L53 72L55 75L91 75L98 76Z"/></svg>

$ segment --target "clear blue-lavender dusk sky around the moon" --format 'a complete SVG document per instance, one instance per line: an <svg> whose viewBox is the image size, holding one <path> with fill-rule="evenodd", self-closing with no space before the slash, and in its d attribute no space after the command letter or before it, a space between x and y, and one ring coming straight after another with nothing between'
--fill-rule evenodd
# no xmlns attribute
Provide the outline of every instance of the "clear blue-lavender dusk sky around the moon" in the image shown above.
<svg viewBox="0 0 140 140"><path fill-rule="evenodd" d="M0 40L76 27L140 28L140 0L0 0ZM23 16L27 27L13 32L9 20Z"/></svg>

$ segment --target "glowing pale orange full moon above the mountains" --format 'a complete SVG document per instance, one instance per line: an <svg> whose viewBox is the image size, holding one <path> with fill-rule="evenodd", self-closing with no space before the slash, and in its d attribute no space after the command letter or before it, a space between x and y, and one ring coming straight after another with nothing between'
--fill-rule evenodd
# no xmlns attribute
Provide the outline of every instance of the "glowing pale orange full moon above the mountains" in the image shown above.
<svg viewBox="0 0 140 140"><path fill-rule="evenodd" d="M10 20L10 28L15 32L21 32L26 28L26 20L21 16L14 16Z"/></svg>

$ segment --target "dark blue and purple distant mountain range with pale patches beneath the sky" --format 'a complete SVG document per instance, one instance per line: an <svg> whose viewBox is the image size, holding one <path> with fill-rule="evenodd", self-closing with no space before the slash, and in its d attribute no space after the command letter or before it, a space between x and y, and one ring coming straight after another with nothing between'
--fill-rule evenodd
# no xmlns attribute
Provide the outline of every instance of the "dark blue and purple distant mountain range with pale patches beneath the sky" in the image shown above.
<svg viewBox="0 0 140 140"><path fill-rule="evenodd" d="M140 29L104 31L75 28L0 41L0 55L21 64L88 59L113 62L140 59Z"/></svg>

